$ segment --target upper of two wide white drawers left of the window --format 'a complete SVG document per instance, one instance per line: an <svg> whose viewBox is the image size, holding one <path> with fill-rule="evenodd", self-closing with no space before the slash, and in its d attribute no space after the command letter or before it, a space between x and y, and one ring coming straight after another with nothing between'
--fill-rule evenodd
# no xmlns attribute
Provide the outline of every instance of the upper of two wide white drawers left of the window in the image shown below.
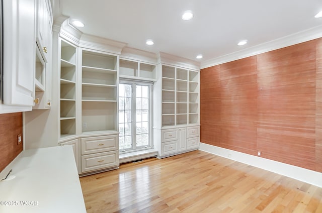
<svg viewBox="0 0 322 213"><path fill-rule="evenodd" d="M118 137L101 136L82 138L82 155L113 151L118 149Z"/></svg>

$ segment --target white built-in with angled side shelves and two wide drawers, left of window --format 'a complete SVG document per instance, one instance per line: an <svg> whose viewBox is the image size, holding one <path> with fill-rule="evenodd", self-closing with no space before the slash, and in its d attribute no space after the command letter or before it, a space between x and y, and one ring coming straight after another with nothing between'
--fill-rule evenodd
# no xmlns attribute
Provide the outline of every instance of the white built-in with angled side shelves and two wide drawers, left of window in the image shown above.
<svg viewBox="0 0 322 213"><path fill-rule="evenodd" d="M84 176L119 166L119 58L78 45L59 38L58 143L73 145L78 173Z"/></svg>

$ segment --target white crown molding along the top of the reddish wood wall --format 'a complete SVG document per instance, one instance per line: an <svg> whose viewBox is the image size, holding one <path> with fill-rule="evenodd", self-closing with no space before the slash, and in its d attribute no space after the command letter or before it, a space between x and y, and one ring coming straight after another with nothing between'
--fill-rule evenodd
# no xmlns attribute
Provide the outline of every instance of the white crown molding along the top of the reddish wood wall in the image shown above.
<svg viewBox="0 0 322 213"><path fill-rule="evenodd" d="M256 45L254 47L250 47L244 50L240 50L237 52L233 52L227 55L219 56L217 58L204 61L201 63L201 69L215 66L218 64L223 64L234 60L238 60L241 58L258 55L272 50L277 50L283 47L288 47L291 45L299 44L302 42L310 41L321 37L322 37L322 25L305 31L301 31L295 34L291 34L279 39L275 39L260 45Z"/></svg>

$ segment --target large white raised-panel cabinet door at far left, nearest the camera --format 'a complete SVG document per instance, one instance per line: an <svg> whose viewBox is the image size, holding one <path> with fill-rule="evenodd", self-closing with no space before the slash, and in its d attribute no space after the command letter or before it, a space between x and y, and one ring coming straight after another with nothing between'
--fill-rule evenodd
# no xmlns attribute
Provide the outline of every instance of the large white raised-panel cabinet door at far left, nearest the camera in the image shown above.
<svg viewBox="0 0 322 213"><path fill-rule="evenodd" d="M3 1L4 103L7 105L34 104L35 6L35 0Z"/></svg>

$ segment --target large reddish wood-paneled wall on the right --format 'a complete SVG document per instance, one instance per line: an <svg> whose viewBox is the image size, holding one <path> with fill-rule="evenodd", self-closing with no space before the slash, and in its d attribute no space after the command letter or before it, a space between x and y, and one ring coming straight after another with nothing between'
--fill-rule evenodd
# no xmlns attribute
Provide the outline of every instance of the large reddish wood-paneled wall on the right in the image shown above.
<svg viewBox="0 0 322 213"><path fill-rule="evenodd" d="M201 142L322 172L322 39L202 69L200 81Z"/></svg>

